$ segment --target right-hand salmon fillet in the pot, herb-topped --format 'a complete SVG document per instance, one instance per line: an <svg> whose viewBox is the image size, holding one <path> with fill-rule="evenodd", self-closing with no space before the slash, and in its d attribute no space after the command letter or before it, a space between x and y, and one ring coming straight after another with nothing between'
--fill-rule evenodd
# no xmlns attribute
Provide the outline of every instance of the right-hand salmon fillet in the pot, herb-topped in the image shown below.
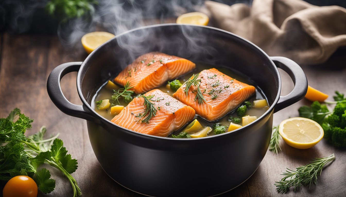
<svg viewBox="0 0 346 197"><path fill-rule="evenodd" d="M255 93L255 87L233 79L215 68L202 70L198 79L201 79L200 90L206 101L198 104L195 100L197 87L191 86L188 96L184 92L186 82L173 96L191 106L200 117L215 121L238 107L242 102Z"/></svg>

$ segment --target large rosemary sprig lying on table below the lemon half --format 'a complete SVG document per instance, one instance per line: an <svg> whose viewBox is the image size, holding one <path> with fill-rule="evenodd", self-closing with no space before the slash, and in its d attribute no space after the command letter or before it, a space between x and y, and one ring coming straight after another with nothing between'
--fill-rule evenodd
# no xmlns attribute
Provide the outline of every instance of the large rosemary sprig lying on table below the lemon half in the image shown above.
<svg viewBox="0 0 346 197"><path fill-rule="evenodd" d="M276 190L279 193L286 193L292 186L294 187L294 191L296 191L301 186L310 187L311 184L317 185L317 175L321 175L323 166L334 159L335 155L332 154L329 157L315 158L315 160L310 161L310 164L300 166L296 170L287 168L286 172L281 174L285 177L275 182Z"/></svg>

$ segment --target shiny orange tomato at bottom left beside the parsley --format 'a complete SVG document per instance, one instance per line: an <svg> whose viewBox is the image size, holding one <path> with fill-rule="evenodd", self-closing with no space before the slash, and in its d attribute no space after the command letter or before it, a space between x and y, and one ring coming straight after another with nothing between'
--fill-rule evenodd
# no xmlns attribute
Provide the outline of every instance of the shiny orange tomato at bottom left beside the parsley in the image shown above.
<svg viewBox="0 0 346 197"><path fill-rule="evenodd" d="M37 185L28 176L11 178L2 190L3 197L36 197Z"/></svg>

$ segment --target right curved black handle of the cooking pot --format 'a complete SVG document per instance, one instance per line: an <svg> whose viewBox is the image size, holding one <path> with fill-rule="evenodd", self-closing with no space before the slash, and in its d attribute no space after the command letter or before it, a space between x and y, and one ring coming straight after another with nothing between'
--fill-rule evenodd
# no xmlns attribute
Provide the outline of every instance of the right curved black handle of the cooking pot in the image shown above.
<svg viewBox="0 0 346 197"><path fill-rule="evenodd" d="M294 83L294 88L288 95L280 96L280 99L274 108L275 113L304 98L308 90L308 80L305 76L304 71L293 60L285 57L270 58L273 60L277 68L281 68L288 73Z"/></svg>

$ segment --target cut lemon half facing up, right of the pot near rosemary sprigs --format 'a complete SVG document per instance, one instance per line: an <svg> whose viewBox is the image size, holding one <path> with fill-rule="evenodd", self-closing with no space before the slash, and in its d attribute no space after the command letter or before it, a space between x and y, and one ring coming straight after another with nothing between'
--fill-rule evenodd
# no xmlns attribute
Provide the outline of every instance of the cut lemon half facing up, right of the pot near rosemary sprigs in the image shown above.
<svg viewBox="0 0 346 197"><path fill-rule="evenodd" d="M280 123L279 133L290 146L307 149L315 146L324 135L322 127L308 118L289 118Z"/></svg>

